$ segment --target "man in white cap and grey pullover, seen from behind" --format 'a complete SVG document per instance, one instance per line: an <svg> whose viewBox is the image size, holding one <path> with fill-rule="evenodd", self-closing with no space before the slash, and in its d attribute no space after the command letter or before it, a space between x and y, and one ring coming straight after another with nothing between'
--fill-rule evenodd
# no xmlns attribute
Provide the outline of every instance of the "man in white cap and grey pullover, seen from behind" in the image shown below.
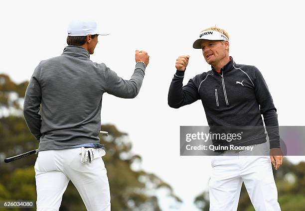
<svg viewBox="0 0 305 211"><path fill-rule="evenodd" d="M98 35L103 34L95 21L71 22L63 54L41 61L26 89L23 113L39 141L37 211L58 211L70 180L88 211L110 211L105 150L99 143L102 96L135 98L149 56L136 50L134 73L124 80L104 63L90 60Z"/></svg>

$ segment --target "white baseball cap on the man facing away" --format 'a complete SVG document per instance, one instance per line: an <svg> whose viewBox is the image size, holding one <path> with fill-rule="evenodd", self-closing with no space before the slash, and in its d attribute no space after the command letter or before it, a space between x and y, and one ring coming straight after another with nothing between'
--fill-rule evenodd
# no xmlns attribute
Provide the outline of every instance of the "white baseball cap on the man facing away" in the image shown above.
<svg viewBox="0 0 305 211"><path fill-rule="evenodd" d="M97 29L97 24L94 20L73 20L68 25L68 36L87 36L94 35L108 35L101 34Z"/></svg>

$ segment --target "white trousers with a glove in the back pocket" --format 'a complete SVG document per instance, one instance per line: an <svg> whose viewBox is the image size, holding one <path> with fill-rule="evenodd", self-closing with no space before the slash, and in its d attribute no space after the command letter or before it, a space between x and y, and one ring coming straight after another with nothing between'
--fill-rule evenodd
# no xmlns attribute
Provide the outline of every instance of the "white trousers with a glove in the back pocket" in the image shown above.
<svg viewBox="0 0 305 211"><path fill-rule="evenodd" d="M58 211L69 181L78 190L88 211L110 211L110 189L102 159L94 148L92 163L81 163L81 148L47 150L35 162L37 211Z"/></svg>

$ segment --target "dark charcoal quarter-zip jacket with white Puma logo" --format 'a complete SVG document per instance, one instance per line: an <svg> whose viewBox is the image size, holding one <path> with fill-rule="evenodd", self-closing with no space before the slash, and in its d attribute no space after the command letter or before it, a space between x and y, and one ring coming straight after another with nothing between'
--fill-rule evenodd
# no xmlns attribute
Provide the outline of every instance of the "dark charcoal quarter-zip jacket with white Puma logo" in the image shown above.
<svg viewBox="0 0 305 211"><path fill-rule="evenodd" d="M201 100L210 131L243 131L232 142L212 140L214 145L253 145L266 142L280 147L277 109L261 72L250 65L236 64L233 58L218 73L212 70L196 75L183 86L184 71L177 71L168 92L168 105L178 108Z"/></svg>

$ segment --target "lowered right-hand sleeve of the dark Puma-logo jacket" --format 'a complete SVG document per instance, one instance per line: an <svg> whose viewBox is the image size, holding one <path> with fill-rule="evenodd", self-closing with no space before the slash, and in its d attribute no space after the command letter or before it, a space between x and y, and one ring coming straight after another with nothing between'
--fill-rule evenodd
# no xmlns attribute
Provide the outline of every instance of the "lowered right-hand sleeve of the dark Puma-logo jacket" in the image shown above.
<svg viewBox="0 0 305 211"><path fill-rule="evenodd" d="M262 73L255 67L255 96L263 114L266 130L269 136L270 148L280 148L279 122L277 109Z"/></svg>

